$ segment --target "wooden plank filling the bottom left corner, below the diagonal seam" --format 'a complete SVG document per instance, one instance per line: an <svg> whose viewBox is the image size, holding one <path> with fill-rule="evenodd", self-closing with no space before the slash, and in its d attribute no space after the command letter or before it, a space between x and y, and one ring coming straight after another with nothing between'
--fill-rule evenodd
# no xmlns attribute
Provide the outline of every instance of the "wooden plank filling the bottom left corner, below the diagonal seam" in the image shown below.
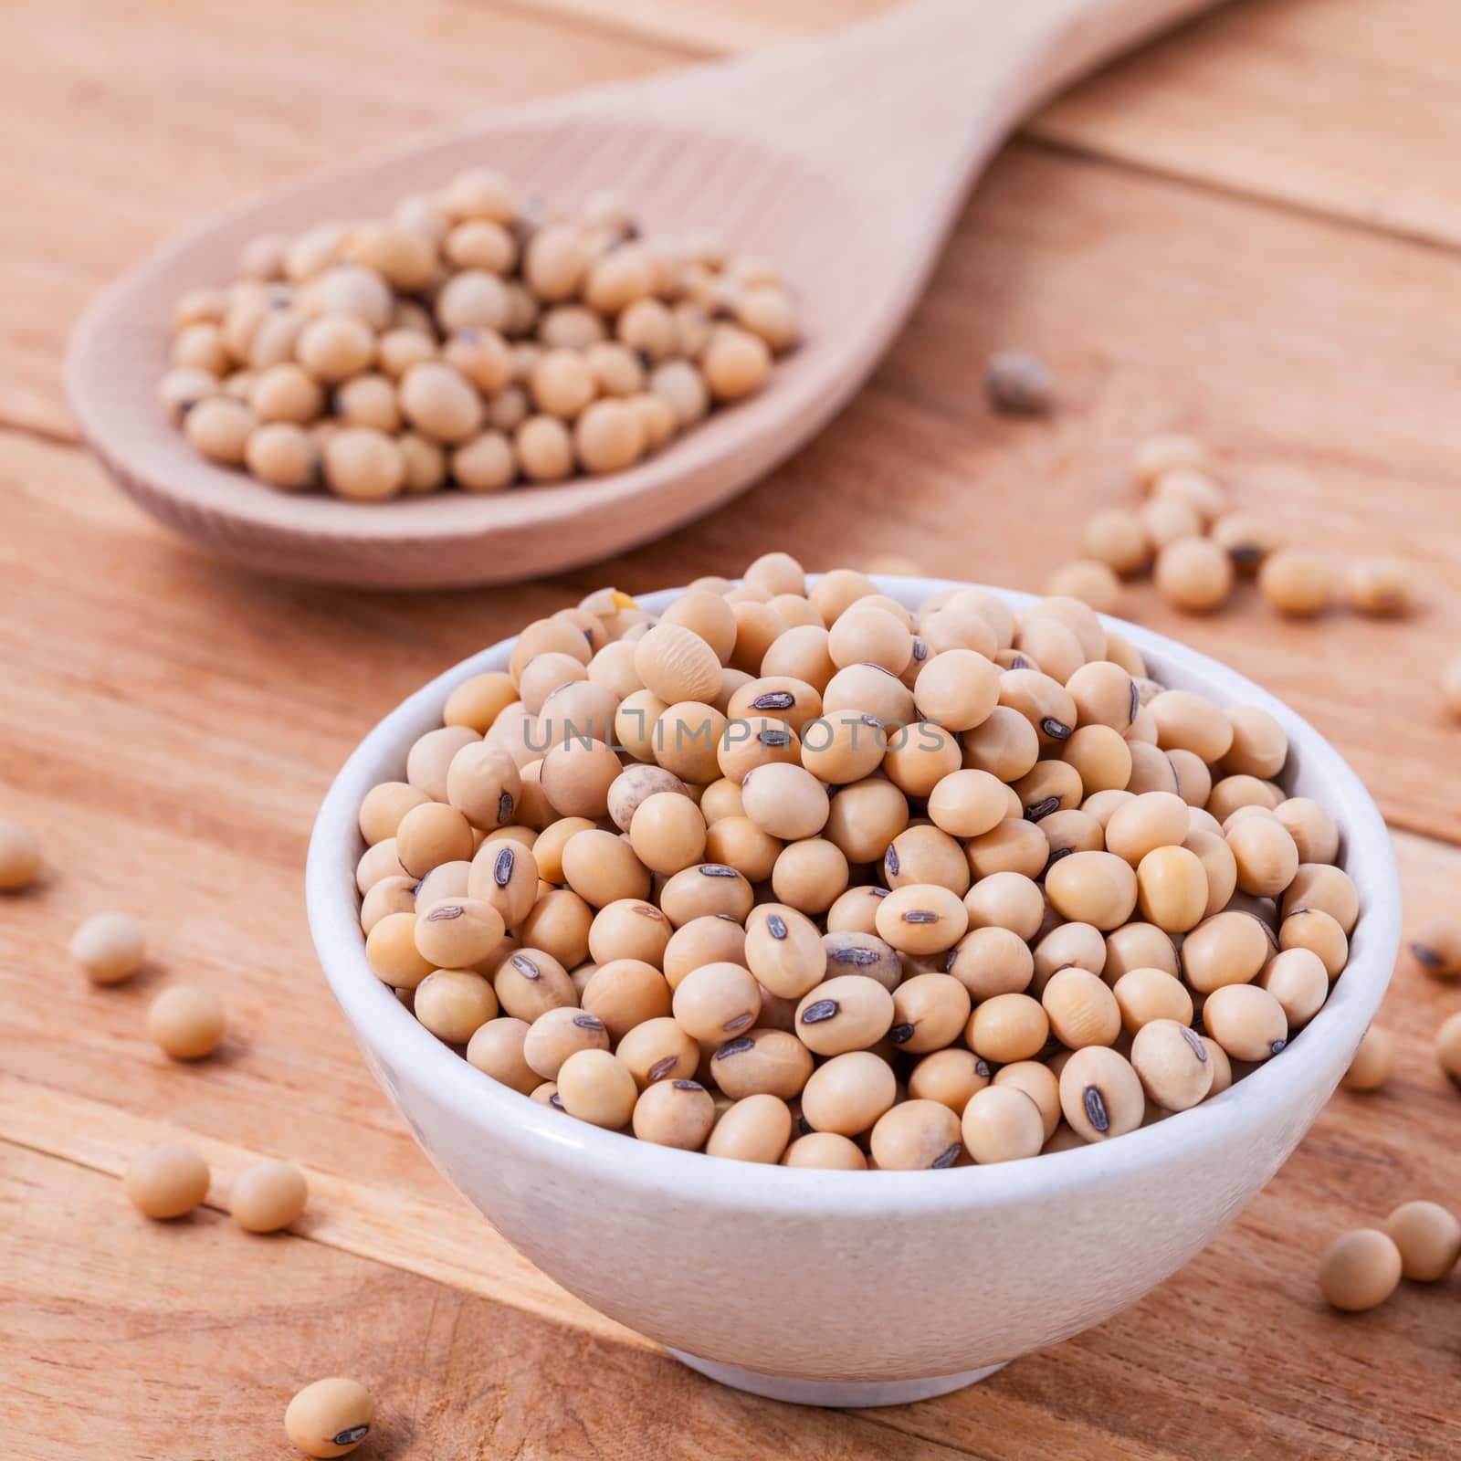
<svg viewBox="0 0 1461 1461"><path fill-rule="evenodd" d="M0 1223L16 1461L297 1458L283 1408L323 1375L375 1395L371 1461L963 1454L877 1417L754 1400L662 1354L320 1243L248 1236L207 1210L149 1223L117 1182L6 1143Z"/></svg>

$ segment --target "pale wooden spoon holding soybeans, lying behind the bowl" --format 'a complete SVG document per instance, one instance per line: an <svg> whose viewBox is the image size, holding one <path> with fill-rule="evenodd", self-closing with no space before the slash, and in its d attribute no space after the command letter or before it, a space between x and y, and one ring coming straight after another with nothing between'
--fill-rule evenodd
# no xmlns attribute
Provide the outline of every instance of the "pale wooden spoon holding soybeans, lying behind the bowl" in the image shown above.
<svg viewBox="0 0 1461 1461"><path fill-rule="evenodd" d="M435 587L608 557L710 511L817 432L893 340L1011 127L1213 3L909 0L830 38L473 118L316 172L165 244L112 285L72 340L72 409L148 511L266 573ZM805 343L758 396L605 478L356 504L275 492L200 460L156 400L174 298L232 278L257 234L387 215L484 165L549 200L608 184L649 231L704 226L773 260ZM969 375L974 390L979 362Z"/></svg>

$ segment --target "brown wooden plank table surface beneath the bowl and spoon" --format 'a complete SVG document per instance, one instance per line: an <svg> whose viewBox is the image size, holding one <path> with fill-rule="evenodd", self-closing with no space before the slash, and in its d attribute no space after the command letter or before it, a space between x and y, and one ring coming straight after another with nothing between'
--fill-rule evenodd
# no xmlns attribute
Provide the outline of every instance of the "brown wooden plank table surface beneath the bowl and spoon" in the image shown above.
<svg viewBox="0 0 1461 1461"><path fill-rule="evenodd" d="M1246 0L1034 118L964 213L874 381L741 501L561 580L371 598L250 579L164 536L76 444L63 342L178 225L352 150L545 94L837 25L880 0L10 0L0 48L0 814L48 872L0 903L0 1413L22 1461L270 1458L301 1382L380 1395L368 1455L1449 1457L1458 1283L1344 1318L1322 1245L1404 1197L1461 1199L1430 1052L1461 995L1403 960L1400 1069L1341 1093L1243 1217L1141 1303L963 1394L863 1413L717 1388L519 1259L428 1166L361 1064L305 934L314 808L406 691L614 581L897 557L1037 587L1131 495L1143 432L1208 438L1240 504L1426 574L1404 624L1280 625L1251 600L1125 612L1289 697L1394 831L1411 922L1461 893L1461 10ZM19 39L20 44L15 44ZM989 351L1045 356L1050 422L993 418ZM85 986L64 947L129 907L149 970ZM145 1039L169 979L234 1033L197 1068ZM149 1224L129 1154L184 1137L221 1178L305 1163L295 1235ZM586 1214L592 1220L592 1214ZM367 1452L361 1452L365 1455Z"/></svg>

